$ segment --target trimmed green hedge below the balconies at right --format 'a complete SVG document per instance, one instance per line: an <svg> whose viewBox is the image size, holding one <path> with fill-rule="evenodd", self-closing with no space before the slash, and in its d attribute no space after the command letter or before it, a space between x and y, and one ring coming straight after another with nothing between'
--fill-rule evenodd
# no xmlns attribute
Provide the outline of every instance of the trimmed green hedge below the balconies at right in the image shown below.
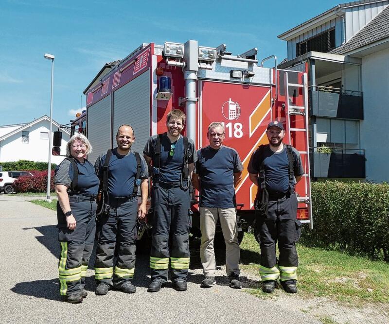
<svg viewBox="0 0 389 324"><path fill-rule="evenodd" d="M312 211L305 244L389 261L389 184L314 182Z"/></svg>

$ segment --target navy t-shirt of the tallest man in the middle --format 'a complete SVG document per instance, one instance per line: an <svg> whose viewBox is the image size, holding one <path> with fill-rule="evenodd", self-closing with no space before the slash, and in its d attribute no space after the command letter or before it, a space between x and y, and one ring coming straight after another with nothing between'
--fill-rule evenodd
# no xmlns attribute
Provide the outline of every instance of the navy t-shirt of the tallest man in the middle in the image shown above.
<svg viewBox="0 0 389 324"><path fill-rule="evenodd" d="M195 152L195 144L192 139L188 138L189 141L189 160L188 163L194 163L197 160ZM146 146L144 147L143 153L149 157L153 157L153 153L156 150L157 135L151 136ZM174 148L173 155L170 151ZM172 183L179 182L181 180L182 165L184 160L184 139L182 136L174 143L170 142L167 135L161 138L161 154L159 162L159 181Z"/></svg>

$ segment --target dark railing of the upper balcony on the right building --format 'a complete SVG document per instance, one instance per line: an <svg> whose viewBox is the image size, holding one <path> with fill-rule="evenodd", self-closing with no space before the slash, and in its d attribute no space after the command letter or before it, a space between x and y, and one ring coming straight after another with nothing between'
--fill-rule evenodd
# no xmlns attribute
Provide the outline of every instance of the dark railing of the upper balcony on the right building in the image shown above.
<svg viewBox="0 0 389 324"><path fill-rule="evenodd" d="M363 119L363 96L361 91L318 85L310 86L309 90L312 115Z"/></svg>

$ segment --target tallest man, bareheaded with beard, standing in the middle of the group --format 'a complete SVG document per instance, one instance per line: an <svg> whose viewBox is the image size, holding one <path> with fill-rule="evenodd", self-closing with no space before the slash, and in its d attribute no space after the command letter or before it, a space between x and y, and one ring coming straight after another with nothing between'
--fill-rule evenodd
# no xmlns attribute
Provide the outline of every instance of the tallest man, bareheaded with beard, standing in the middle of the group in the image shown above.
<svg viewBox="0 0 389 324"><path fill-rule="evenodd" d="M179 109L170 111L166 116L167 132L151 136L143 150L146 161L153 167L150 292L159 291L165 285L169 263L174 288L187 290L190 179L197 154L194 142L181 135L185 118Z"/></svg>

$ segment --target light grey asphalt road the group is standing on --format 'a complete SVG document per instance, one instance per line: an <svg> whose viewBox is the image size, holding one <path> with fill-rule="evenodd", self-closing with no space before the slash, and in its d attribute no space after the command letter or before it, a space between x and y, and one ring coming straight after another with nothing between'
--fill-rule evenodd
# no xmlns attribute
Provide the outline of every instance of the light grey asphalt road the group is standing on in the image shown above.
<svg viewBox="0 0 389 324"><path fill-rule="evenodd" d="M169 283L147 292L147 254L137 254L135 294L110 290L94 294L93 261L87 273L88 297L81 304L61 301L58 293L59 244L52 210L29 198L0 195L0 323L320 323L317 318L271 300L228 286L225 267L217 270L217 285L201 289L198 249L192 249L188 290ZM259 286L242 273L244 287Z"/></svg>

